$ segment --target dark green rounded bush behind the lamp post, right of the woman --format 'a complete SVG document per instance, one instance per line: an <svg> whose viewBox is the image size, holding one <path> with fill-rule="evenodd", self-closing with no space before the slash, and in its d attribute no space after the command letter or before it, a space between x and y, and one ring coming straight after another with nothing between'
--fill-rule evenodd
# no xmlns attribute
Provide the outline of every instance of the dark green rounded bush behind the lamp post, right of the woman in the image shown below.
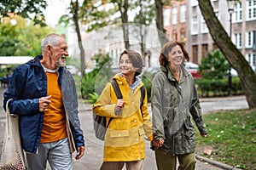
<svg viewBox="0 0 256 170"><path fill-rule="evenodd" d="M196 81L201 97L228 95L228 70L230 65L224 55L215 49L201 60L199 72L203 77ZM232 94L242 94L238 77L233 77L231 82Z"/></svg>

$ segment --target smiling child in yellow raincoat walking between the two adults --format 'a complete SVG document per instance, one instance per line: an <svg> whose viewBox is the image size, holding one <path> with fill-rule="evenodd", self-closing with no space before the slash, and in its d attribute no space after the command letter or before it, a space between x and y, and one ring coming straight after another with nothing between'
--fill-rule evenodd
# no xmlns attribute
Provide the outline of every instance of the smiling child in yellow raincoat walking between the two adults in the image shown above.
<svg viewBox="0 0 256 170"><path fill-rule="evenodd" d="M152 141L152 123L148 115L147 94L140 105L143 59L132 50L125 50L119 57L119 73L113 79L118 83L123 99L118 99L110 82L103 89L94 105L99 116L106 116L109 123L104 140L104 158L101 170L143 170L145 134Z"/></svg>

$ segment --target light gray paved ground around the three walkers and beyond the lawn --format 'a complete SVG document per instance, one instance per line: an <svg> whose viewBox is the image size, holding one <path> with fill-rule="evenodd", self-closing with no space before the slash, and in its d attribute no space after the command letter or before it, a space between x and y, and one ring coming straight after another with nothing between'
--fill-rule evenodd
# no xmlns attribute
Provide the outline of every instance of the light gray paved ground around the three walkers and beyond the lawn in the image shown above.
<svg viewBox="0 0 256 170"><path fill-rule="evenodd" d="M5 113L3 110L3 92L5 89L0 88L0 152L2 151L3 145L3 133L4 133L4 122ZM211 99L200 99L201 107L204 114L208 111L216 110L230 110L230 109L244 109L248 108L246 99L244 96L236 96L231 98L211 98ZM229 101L229 102L224 102ZM88 169L98 170L102 165L103 155L103 142L96 139L93 124L92 124L92 105L79 104L79 117L81 127L84 130L84 138L86 148L84 156L79 160L73 161L73 169ZM150 104L148 104L148 112L151 114ZM144 162L145 170L156 170L156 164L154 160L154 151L149 149L149 141L146 141L146 158ZM74 157L74 156L73 156ZM219 170L219 169L235 169L221 162L209 160L203 156L197 156L198 160L196 163L196 170ZM212 164L210 164L212 163ZM218 167L217 167L218 166ZM222 167L222 168L220 168ZM49 168L50 169L50 168Z"/></svg>

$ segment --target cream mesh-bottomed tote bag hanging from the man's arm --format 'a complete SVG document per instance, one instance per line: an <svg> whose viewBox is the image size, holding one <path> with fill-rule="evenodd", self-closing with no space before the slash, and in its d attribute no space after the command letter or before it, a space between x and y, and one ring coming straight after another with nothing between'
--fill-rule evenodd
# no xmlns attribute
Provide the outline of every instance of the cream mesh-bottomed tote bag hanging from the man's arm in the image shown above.
<svg viewBox="0 0 256 170"><path fill-rule="evenodd" d="M26 160L20 143L19 116L10 115L8 103L6 104L6 125L1 154L1 170L26 169Z"/></svg>

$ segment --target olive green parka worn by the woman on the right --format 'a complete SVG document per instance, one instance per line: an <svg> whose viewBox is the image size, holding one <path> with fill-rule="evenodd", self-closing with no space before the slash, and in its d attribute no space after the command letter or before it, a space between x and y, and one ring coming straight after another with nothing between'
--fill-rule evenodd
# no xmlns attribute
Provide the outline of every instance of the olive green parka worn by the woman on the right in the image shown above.
<svg viewBox="0 0 256 170"><path fill-rule="evenodd" d="M207 133L194 78L181 65L177 82L169 66L160 67L152 82L151 107L154 139L164 139L160 147L167 154L184 155L195 152L195 125Z"/></svg>

